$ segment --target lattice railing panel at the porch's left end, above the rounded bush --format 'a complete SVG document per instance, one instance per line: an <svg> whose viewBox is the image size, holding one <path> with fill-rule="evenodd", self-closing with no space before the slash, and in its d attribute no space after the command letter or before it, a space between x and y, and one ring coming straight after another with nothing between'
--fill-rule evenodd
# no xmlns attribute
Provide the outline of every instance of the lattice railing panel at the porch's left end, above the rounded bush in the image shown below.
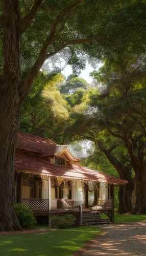
<svg viewBox="0 0 146 256"><path fill-rule="evenodd" d="M22 203L27 205L31 210L48 209L48 199L22 199Z"/></svg>

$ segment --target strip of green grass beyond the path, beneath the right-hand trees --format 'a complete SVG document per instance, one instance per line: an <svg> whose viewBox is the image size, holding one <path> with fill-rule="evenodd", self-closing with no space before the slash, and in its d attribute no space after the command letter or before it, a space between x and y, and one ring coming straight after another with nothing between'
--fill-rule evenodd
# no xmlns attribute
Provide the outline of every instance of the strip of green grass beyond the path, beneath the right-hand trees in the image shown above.
<svg viewBox="0 0 146 256"><path fill-rule="evenodd" d="M102 219L107 219L108 217L105 214L102 214ZM125 222L137 222L146 220L146 215L121 215L114 214L115 223L125 223Z"/></svg>

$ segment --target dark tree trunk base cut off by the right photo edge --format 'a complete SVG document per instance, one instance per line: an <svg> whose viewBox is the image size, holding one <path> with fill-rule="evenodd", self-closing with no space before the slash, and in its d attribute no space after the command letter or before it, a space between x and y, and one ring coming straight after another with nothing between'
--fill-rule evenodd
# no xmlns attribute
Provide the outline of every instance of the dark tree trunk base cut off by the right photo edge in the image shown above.
<svg viewBox="0 0 146 256"><path fill-rule="evenodd" d="M135 175L135 206L132 214L146 214L146 174L139 172Z"/></svg>

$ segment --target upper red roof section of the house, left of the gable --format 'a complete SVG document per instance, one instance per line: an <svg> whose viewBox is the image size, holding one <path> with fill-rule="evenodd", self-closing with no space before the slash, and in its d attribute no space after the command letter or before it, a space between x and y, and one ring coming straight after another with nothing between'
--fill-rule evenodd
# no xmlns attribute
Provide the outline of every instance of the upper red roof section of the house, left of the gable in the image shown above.
<svg viewBox="0 0 146 256"><path fill-rule="evenodd" d="M18 132L17 147L40 154L40 157L58 154L67 145L58 145L55 142L27 133Z"/></svg>

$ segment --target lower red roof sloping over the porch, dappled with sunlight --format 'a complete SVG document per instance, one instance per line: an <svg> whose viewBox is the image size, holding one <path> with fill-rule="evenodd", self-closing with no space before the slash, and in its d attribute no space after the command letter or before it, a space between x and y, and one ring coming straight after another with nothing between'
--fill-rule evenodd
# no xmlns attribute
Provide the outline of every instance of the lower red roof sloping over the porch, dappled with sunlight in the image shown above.
<svg viewBox="0 0 146 256"><path fill-rule="evenodd" d="M18 153L15 154L15 170L25 170L33 174L57 176L66 179L81 179L113 184L127 183L125 180L117 179L102 172L96 172L79 164L61 166L50 164L46 159L29 157Z"/></svg>

